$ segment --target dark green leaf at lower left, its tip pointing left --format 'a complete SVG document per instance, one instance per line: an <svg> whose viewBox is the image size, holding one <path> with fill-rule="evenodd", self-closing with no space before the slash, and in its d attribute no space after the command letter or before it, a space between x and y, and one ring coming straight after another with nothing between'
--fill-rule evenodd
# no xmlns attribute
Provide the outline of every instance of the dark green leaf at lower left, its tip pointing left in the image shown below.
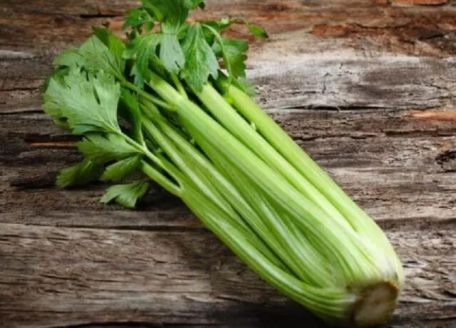
<svg viewBox="0 0 456 328"><path fill-rule="evenodd" d="M68 188L73 185L86 185L100 178L103 173L103 165L93 163L87 158L81 163L64 168L57 177L56 185Z"/></svg>

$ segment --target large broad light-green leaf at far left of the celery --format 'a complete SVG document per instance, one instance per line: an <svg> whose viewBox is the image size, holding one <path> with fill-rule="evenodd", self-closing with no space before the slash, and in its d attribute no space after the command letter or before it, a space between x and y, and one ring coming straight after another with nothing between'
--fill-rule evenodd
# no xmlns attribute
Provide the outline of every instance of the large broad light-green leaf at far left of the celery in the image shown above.
<svg viewBox="0 0 456 328"><path fill-rule="evenodd" d="M63 81L64 84L56 79L49 81L44 93L46 113L53 118L68 118L71 128L76 130L81 130L77 125L90 125L107 132L120 130L117 121L120 86L113 76L100 72L86 77L73 69Z"/></svg>

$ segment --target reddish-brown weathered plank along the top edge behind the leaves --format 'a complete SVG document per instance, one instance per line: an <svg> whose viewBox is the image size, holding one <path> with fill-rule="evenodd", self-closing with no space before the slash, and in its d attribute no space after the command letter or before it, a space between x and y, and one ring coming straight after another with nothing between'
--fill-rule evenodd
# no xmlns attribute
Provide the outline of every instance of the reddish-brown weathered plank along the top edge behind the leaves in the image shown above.
<svg viewBox="0 0 456 328"><path fill-rule="evenodd" d="M409 3L410 4L410 3ZM125 10L135 1L21 1L2 4L0 45L55 51L81 42L90 26L110 24L118 30ZM398 1L207 1L207 10L192 17L244 16L264 25L271 40L296 31L289 38L306 51L356 48L361 51L395 51L448 56L456 53L455 6L404 6ZM9 17L14 16L14 20ZM234 34L242 33L239 29ZM336 40L336 42L334 42ZM253 41L251 39L251 41Z"/></svg>

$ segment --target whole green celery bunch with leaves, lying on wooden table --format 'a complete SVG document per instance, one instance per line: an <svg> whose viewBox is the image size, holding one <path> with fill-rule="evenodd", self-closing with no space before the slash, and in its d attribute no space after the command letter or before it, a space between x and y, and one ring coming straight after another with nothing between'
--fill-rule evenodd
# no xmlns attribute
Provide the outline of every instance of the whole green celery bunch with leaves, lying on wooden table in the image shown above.
<svg viewBox="0 0 456 328"><path fill-rule="evenodd" d="M187 24L202 0L143 0L123 43L108 29L63 51L43 110L81 136L57 185L119 183L135 207L151 180L182 201L270 285L333 324L388 320L403 269L387 237L252 98L243 19ZM155 29L157 27L157 29ZM221 68L223 64L224 69ZM125 183L135 172L145 178Z"/></svg>

